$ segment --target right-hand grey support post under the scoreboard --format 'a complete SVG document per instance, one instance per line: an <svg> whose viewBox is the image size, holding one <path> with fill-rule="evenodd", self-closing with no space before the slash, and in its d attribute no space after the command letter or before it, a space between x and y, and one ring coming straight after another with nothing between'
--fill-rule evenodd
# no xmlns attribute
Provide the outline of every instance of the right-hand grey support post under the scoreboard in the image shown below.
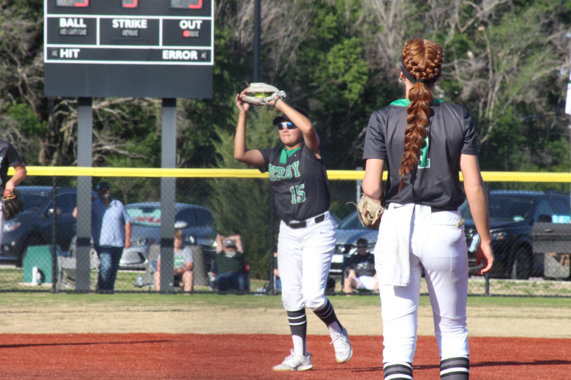
<svg viewBox="0 0 571 380"><path fill-rule="evenodd" d="M176 99L163 99L160 167L176 166ZM172 293L176 178L160 178L160 292Z"/></svg>

